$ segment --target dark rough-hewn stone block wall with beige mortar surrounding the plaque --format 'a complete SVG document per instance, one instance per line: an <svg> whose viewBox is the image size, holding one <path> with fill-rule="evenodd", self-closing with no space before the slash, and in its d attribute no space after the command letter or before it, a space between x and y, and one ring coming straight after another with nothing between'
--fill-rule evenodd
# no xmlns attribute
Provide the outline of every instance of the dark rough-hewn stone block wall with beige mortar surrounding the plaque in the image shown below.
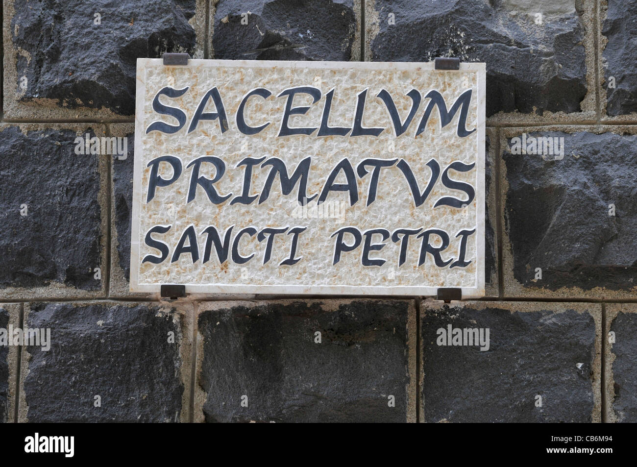
<svg viewBox="0 0 637 467"><path fill-rule="evenodd" d="M0 347L0 422L637 421L636 6L4 0L0 328L52 347ZM487 296L131 294L135 63L164 52L486 62Z"/></svg>

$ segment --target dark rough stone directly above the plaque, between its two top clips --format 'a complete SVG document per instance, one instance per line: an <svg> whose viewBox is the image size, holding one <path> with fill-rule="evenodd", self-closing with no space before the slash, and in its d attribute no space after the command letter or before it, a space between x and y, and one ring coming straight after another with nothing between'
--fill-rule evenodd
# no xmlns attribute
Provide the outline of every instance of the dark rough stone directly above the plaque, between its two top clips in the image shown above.
<svg viewBox="0 0 637 467"><path fill-rule="evenodd" d="M219 0L212 43L216 59L349 61L356 29L354 0Z"/></svg>

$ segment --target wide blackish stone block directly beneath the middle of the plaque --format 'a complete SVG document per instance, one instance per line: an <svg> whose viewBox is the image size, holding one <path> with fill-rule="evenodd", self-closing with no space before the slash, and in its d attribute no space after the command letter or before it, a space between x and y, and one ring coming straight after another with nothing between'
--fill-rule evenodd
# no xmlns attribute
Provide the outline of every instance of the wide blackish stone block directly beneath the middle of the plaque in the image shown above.
<svg viewBox="0 0 637 467"><path fill-rule="evenodd" d="M406 421L411 303L226 302L204 311L197 354L205 420Z"/></svg>

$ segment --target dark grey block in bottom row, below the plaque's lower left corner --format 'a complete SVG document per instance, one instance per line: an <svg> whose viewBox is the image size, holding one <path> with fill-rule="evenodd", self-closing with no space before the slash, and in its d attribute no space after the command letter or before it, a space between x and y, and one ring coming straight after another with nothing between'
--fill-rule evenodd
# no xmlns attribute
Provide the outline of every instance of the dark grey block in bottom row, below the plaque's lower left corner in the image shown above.
<svg viewBox="0 0 637 467"><path fill-rule="evenodd" d="M50 327L52 345L48 352L25 347L22 362L28 373L23 373L20 410L28 407L27 420L180 419L180 320L156 305L129 305L31 306L27 326ZM168 342L171 332L175 343ZM96 395L101 396L101 407L94 406Z"/></svg>

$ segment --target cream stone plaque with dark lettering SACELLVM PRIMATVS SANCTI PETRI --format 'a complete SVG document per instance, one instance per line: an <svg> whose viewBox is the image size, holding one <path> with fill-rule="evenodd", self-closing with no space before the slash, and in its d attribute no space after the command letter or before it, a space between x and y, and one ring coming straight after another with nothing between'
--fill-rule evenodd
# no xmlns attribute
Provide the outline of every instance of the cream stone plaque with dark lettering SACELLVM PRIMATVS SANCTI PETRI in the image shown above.
<svg viewBox="0 0 637 467"><path fill-rule="evenodd" d="M138 59L131 291L484 294L485 65Z"/></svg>

